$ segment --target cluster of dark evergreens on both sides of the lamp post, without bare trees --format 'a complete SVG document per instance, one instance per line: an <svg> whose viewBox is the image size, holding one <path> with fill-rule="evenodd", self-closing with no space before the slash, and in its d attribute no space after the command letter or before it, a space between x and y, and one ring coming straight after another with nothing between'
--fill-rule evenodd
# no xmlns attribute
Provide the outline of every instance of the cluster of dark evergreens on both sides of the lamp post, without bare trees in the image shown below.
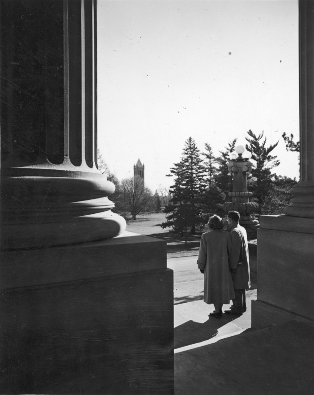
<svg viewBox="0 0 314 395"><path fill-rule="evenodd" d="M251 154L252 173L248 174L248 191L253 193L251 201L258 203L257 216L260 214L282 214L291 195L289 190L296 180L276 175L272 170L280 164L273 150L278 142L267 145L264 132L247 132L246 150ZM231 140L220 155L216 157L209 143L200 152L195 140L185 141L179 162L174 163L168 176L174 177L170 187L171 199L165 207L166 222L163 228L172 227L181 237L195 233L202 228L214 213L224 215L224 203L230 201L232 174L227 163L234 152L236 139Z"/></svg>

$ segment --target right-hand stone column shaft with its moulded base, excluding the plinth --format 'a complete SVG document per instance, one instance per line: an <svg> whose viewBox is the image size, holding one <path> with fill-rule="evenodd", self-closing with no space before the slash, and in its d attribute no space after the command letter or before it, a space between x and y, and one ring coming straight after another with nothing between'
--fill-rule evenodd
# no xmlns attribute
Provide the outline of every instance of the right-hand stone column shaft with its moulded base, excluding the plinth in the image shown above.
<svg viewBox="0 0 314 395"><path fill-rule="evenodd" d="M314 3L299 4L300 182L284 213L314 218Z"/></svg>

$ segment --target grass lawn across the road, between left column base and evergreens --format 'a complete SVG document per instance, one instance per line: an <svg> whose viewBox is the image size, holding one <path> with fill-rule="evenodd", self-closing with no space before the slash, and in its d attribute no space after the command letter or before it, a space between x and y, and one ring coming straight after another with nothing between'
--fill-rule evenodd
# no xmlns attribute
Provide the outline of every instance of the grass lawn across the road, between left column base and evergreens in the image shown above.
<svg viewBox="0 0 314 395"><path fill-rule="evenodd" d="M164 213L145 213L136 216L136 221L127 221L127 231L150 237L161 238L167 241L167 257L198 255L201 235L188 235L187 243L179 235L172 232L171 228L162 229L160 226L165 222Z"/></svg>

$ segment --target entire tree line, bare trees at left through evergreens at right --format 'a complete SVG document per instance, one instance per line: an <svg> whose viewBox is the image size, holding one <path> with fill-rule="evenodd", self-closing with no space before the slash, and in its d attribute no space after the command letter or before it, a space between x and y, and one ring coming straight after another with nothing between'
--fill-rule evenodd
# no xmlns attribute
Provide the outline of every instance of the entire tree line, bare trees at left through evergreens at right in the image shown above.
<svg viewBox="0 0 314 395"><path fill-rule="evenodd" d="M298 151L297 143L292 141L293 136L289 141L285 134L282 137L287 149ZM248 190L253 193L251 201L258 203L256 214L282 214L290 202L289 190L296 179L272 172L280 164L277 156L273 155L278 142L268 145L264 132L255 134L252 130L247 132L245 139L245 148L250 152L254 165L252 173L248 174ZM190 136L184 143L179 162L174 163L167 174L173 177L173 185L169 190L160 187L154 194L139 177L119 181L98 151L99 170L106 173L107 179L116 186L110 197L115 202L114 211L125 218L131 213L132 219L136 220L141 212L163 210L166 214L163 228L172 227L182 237L194 234L214 213L224 215L224 203L231 200L228 193L232 191L233 180L227 163L236 141L228 142L224 150L219 151L220 155L215 156L209 143L201 152Z"/></svg>

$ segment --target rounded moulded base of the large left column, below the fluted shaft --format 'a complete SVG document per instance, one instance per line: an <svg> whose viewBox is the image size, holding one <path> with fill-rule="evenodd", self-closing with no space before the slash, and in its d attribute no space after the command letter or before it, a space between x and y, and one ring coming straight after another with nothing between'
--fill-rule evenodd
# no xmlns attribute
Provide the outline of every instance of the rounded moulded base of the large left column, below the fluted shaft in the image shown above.
<svg viewBox="0 0 314 395"><path fill-rule="evenodd" d="M111 212L115 186L105 175L59 167L11 169L1 180L3 249L85 243L126 229L125 219Z"/></svg>

